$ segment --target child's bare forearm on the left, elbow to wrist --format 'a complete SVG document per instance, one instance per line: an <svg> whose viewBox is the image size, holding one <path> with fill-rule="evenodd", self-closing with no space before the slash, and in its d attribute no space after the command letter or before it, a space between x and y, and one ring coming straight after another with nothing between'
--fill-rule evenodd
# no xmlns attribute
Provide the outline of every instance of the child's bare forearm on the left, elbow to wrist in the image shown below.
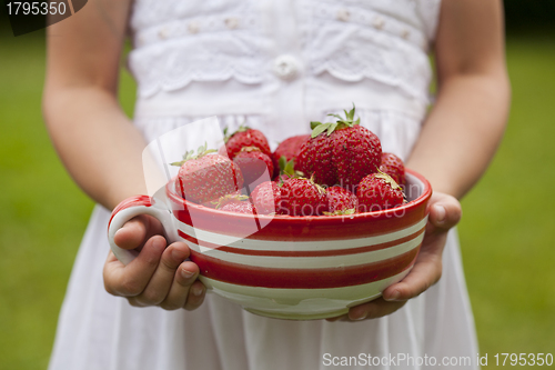
<svg viewBox="0 0 555 370"><path fill-rule="evenodd" d="M93 200L112 209L128 197L145 193L145 143L113 93L47 83L43 110L61 160Z"/></svg>

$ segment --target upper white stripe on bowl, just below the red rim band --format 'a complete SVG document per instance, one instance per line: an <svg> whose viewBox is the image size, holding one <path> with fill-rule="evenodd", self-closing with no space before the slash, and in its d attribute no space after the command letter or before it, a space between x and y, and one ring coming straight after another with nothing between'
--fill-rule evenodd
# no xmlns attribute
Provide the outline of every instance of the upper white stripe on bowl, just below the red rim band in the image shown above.
<svg viewBox="0 0 555 370"><path fill-rule="evenodd" d="M356 247L381 244L404 237L408 237L415 233L426 224L426 221L427 221L427 216L408 228L377 237L330 240L330 241L271 241L271 240L243 239L239 237L230 237L211 231L205 231L191 227L175 219L175 222L178 222L179 229L182 232L193 238L210 242L212 244L229 246L240 249L281 250L281 251L351 249ZM349 236L345 237L347 238Z"/></svg>

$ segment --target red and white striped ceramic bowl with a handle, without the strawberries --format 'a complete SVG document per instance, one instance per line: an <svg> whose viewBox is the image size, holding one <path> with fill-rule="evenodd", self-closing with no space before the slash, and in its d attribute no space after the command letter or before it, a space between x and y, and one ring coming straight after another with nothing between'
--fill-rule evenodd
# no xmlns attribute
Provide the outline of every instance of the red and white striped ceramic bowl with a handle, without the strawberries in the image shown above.
<svg viewBox="0 0 555 370"><path fill-rule="evenodd" d="M424 238L430 183L407 170L408 203L385 211L332 217L249 216L185 201L170 182L153 198L118 206L113 234L138 214L157 217L168 238L191 248L200 279L244 309L283 319L321 319L381 296L411 270Z"/></svg>

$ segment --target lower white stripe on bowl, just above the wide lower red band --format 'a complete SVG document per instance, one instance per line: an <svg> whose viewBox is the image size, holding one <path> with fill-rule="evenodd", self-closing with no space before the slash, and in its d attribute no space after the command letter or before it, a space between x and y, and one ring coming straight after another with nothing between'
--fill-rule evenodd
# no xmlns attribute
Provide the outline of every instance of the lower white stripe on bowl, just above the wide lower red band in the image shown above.
<svg viewBox="0 0 555 370"><path fill-rule="evenodd" d="M424 233L418 234L406 242L392 246L385 249L379 249L370 252L342 256L319 256L319 257L280 257L280 256L249 256L221 251L200 247L188 241L188 244L195 251L201 251L205 256L223 260L226 262L276 268L276 269L324 269L336 267L351 267L386 260L397 257L418 247L424 238Z"/></svg>

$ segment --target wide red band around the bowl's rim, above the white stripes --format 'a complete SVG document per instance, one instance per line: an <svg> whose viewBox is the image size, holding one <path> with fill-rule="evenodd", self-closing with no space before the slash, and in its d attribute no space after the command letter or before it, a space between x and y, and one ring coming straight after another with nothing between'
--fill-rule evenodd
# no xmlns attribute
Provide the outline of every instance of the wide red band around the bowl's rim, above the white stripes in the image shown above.
<svg viewBox="0 0 555 370"><path fill-rule="evenodd" d="M426 203L432 194L430 183L416 172L407 170L424 186L422 194L398 208L332 217L258 216L226 212L186 202L174 193L169 182L167 193L173 214L195 229L235 238L271 241L330 241L386 234L408 228L426 216ZM262 224L260 228L258 224Z"/></svg>

